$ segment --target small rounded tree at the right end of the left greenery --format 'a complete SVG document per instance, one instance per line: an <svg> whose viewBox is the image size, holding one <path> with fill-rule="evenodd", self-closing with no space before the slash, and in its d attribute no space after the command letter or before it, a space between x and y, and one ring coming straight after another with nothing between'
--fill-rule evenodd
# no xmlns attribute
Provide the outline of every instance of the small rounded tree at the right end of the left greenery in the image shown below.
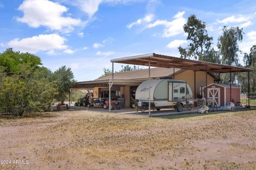
<svg viewBox="0 0 256 170"><path fill-rule="evenodd" d="M55 99L61 102L65 101L67 94L70 92L69 89L76 83L73 72L70 68L61 66L53 73L52 78L58 87L58 94L55 96Z"/></svg>

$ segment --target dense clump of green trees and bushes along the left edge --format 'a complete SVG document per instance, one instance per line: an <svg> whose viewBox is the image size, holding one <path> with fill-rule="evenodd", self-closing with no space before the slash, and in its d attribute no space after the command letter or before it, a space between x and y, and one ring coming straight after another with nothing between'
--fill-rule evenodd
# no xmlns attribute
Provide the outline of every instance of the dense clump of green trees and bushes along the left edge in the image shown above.
<svg viewBox="0 0 256 170"><path fill-rule="evenodd" d="M52 73L33 54L0 53L0 109L14 115L37 112L54 100L65 101L75 83L73 72L66 66Z"/></svg>

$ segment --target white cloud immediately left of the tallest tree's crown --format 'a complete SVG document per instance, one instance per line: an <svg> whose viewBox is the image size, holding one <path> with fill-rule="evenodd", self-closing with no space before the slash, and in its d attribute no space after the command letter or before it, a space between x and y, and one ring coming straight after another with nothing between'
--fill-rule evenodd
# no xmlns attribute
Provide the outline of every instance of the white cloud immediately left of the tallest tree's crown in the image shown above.
<svg viewBox="0 0 256 170"><path fill-rule="evenodd" d="M153 28L158 25L164 25L162 37L172 37L179 35L183 32L183 25L186 23L186 19L183 18L185 11L178 12L174 15L172 21L156 20L153 23L147 25L147 28Z"/></svg>

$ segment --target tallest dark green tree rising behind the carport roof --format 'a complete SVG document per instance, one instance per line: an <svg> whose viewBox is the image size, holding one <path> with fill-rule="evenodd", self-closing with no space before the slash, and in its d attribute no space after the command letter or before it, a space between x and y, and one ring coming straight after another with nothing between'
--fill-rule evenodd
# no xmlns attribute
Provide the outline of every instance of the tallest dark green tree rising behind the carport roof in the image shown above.
<svg viewBox="0 0 256 170"><path fill-rule="evenodd" d="M183 29L188 35L187 40L191 43L187 48L179 47L181 58L206 61L213 38L208 36L205 22L197 19L196 15L190 15Z"/></svg>

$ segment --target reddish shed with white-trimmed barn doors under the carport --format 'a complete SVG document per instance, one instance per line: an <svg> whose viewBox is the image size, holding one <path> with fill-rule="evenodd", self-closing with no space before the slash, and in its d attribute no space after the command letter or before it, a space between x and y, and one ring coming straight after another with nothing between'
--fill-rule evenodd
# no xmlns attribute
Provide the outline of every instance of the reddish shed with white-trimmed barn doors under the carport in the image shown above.
<svg viewBox="0 0 256 170"><path fill-rule="evenodd" d="M203 96L206 97L205 87L203 87ZM232 85L230 91L230 84L212 83L207 86L207 98L212 98L219 107L226 106L226 103L229 103L232 99L236 105L241 100L241 89L239 86Z"/></svg>

